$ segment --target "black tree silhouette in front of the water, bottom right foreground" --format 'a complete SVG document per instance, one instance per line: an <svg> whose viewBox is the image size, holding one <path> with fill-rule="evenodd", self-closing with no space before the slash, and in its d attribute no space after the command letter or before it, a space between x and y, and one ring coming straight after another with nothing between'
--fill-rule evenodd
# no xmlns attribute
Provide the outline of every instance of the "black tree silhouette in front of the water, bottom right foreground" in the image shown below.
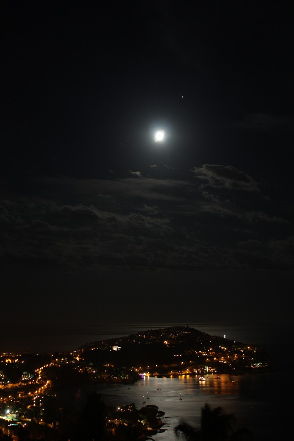
<svg viewBox="0 0 294 441"><path fill-rule="evenodd" d="M181 421L175 434L187 441L252 441L250 430L236 429L233 414L225 414L221 407L211 409L208 404L201 408L201 428L196 429L185 421Z"/></svg>

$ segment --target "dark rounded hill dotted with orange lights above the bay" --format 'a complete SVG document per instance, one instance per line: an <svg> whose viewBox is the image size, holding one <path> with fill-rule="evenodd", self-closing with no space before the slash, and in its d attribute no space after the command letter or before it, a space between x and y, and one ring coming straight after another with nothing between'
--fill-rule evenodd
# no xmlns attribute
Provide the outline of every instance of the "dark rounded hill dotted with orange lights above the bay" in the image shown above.
<svg viewBox="0 0 294 441"><path fill-rule="evenodd" d="M255 346L212 336L189 326L149 329L129 336L88 343L79 348L86 362L115 367L144 367L167 373L164 367L206 363L218 372L270 367L266 353ZM209 360L209 363L207 363ZM153 368L152 368L153 367Z"/></svg>

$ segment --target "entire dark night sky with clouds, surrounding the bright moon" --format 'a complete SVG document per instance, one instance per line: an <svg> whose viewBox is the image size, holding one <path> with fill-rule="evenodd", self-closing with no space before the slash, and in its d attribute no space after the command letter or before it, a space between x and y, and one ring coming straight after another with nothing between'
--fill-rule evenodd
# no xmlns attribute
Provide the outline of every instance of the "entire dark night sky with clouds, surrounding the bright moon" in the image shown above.
<svg viewBox="0 0 294 441"><path fill-rule="evenodd" d="M293 8L104 3L1 2L1 324L290 321Z"/></svg>

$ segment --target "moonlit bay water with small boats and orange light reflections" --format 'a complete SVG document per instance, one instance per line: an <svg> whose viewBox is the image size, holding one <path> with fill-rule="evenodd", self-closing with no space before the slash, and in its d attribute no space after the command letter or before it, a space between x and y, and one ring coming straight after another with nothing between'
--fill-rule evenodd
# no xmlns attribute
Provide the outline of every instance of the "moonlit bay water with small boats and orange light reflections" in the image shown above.
<svg viewBox="0 0 294 441"><path fill-rule="evenodd" d="M59 387L58 395L63 405L76 409L83 405L90 391L100 393L107 405L135 403L139 409L147 404L156 405L165 412L162 418L165 431L154 436L156 441L177 440L174 427L182 418L200 427L201 408L206 403L232 413L236 427L249 429L256 441L286 439L283 437L288 433L290 421L284 413L285 385L277 372L217 377L209 375L205 382L182 375L145 377L132 385L64 385Z"/></svg>

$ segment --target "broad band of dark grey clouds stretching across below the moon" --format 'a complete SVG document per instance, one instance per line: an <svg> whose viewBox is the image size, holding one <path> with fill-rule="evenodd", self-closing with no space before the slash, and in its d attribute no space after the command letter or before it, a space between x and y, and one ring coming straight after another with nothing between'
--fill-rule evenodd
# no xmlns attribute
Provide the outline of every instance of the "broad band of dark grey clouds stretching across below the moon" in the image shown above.
<svg viewBox="0 0 294 441"><path fill-rule="evenodd" d="M1 262L196 271L261 269L264 258L266 267L293 268L286 206L267 201L253 178L231 166L206 164L195 176L44 177L17 192L6 183ZM239 198L239 190L255 196ZM244 241L248 235L255 241Z"/></svg>

